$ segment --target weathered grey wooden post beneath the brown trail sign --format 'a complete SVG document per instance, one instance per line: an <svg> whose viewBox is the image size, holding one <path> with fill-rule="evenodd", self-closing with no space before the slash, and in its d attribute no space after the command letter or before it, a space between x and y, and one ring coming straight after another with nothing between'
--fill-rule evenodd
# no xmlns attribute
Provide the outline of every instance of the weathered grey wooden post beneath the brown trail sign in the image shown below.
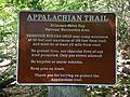
<svg viewBox="0 0 130 97"><path fill-rule="evenodd" d="M84 87L48 86L48 97L84 97Z"/></svg>

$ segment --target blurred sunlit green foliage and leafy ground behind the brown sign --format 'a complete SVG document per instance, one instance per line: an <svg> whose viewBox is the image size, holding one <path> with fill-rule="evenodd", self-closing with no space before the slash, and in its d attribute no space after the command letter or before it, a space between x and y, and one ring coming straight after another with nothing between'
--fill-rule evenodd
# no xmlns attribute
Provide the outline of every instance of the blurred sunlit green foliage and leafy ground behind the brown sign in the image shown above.
<svg viewBox="0 0 130 97"><path fill-rule="evenodd" d="M15 77L17 59L17 22L20 11L113 12L117 15L119 57L130 59L130 0L0 0L0 63L10 59L12 65L0 67L0 83ZM130 97L129 74L118 73L116 86L86 86L87 97ZM22 89L23 88L23 92ZM30 89L31 88L31 89ZM37 91L37 89L38 91ZM17 92L12 92L13 89ZM34 91L35 89L35 91ZM42 91L40 91L42 89ZM2 89L1 89L2 91ZM8 95L44 97L44 86L13 86L4 89ZM27 93L27 91L29 93ZM39 92L36 94L36 92Z"/></svg>

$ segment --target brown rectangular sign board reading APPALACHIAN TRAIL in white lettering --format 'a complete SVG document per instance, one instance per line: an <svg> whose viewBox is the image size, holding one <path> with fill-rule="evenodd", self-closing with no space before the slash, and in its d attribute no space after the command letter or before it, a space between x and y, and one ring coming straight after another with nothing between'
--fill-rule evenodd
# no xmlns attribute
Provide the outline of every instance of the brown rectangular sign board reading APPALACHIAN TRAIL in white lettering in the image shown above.
<svg viewBox="0 0 130 97"><path fill-rule="evenodd" d="M18 84L116 83L114 13L21 12Z"/></svg>

